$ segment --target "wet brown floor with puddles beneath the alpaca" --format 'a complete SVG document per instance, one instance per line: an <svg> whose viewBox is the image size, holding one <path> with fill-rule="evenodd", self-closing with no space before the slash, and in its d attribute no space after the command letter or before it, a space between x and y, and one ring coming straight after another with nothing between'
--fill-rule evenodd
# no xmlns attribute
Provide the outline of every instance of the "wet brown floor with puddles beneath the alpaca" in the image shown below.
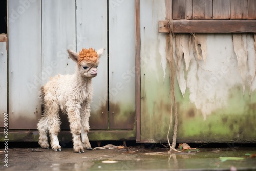
<svg viewBox="0 0 256 171"><path fill-rule="evenodd" d="M171 154L166 148L140 147L85 153L74 153L72 148L60 152L13 148L8 149L8 167L1 162L0 170L256 170L256 158L249 158L248 154L256 154L256 148L197 148ZM0 149L0 155L4 160L4 149ZM221 161L220 157L244 159Z"/></svg>

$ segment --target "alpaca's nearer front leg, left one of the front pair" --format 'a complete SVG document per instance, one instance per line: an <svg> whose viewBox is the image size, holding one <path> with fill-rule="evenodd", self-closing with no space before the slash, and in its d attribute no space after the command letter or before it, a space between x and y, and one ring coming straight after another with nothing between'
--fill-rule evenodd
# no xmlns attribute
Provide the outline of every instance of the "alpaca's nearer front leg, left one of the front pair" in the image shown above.
<svg viewBox="0 0 256 171"><path fill-rule="evenodd" d="M70 130L73 136L73 149L75 152L78 152L78 153L84 152L81 138L80 138L81 128L82 128L80 109L77 107L69 108L68 119L70 123Z"/></svg>

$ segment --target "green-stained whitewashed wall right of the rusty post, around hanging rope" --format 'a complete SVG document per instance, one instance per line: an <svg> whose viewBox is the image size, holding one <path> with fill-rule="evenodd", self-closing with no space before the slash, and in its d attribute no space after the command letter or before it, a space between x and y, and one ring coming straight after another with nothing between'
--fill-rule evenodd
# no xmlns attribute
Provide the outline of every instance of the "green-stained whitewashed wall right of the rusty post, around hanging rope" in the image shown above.
<svg viewBox="0 0 256 171"><path fill-rule="evenodd" d="M166 17L165 1L140 3L140 142L166 142L170 121L167 35L157 32L158 21ZM193 12L181 15L179 19L193 18ZM172 42L177 67L177 142L255 143L255 34L179 33Z"/></svg>

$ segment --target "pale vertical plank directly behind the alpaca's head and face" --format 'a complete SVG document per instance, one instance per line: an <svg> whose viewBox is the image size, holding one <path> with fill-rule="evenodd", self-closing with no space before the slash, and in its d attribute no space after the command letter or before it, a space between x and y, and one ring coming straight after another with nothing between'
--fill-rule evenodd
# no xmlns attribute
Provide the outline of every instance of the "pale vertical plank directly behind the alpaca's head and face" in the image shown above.
<svg viewBox="0 0 256 171"><path fill-rule="evenodd" d="M106 48L100 58L98 75L93 78L91 129L108 128L108 4L105 0L77 0L77 51L83 47Z"/></svg>

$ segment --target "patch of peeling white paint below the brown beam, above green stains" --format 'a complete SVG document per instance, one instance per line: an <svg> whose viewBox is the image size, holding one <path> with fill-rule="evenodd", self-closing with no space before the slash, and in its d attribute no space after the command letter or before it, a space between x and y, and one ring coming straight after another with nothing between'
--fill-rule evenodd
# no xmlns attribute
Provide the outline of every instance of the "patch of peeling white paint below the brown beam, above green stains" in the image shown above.
<svg viewBox="0 0 256 171"><path fill-rule="evenodd" d="M249 91L256 89L254 37L252 34L175 37L174 58L181 93L184 97L185 90L189 90L190 102L202 112L204 120L228 105L230 89L236 86L243 87L243 92L247 87Z"/></svg>

